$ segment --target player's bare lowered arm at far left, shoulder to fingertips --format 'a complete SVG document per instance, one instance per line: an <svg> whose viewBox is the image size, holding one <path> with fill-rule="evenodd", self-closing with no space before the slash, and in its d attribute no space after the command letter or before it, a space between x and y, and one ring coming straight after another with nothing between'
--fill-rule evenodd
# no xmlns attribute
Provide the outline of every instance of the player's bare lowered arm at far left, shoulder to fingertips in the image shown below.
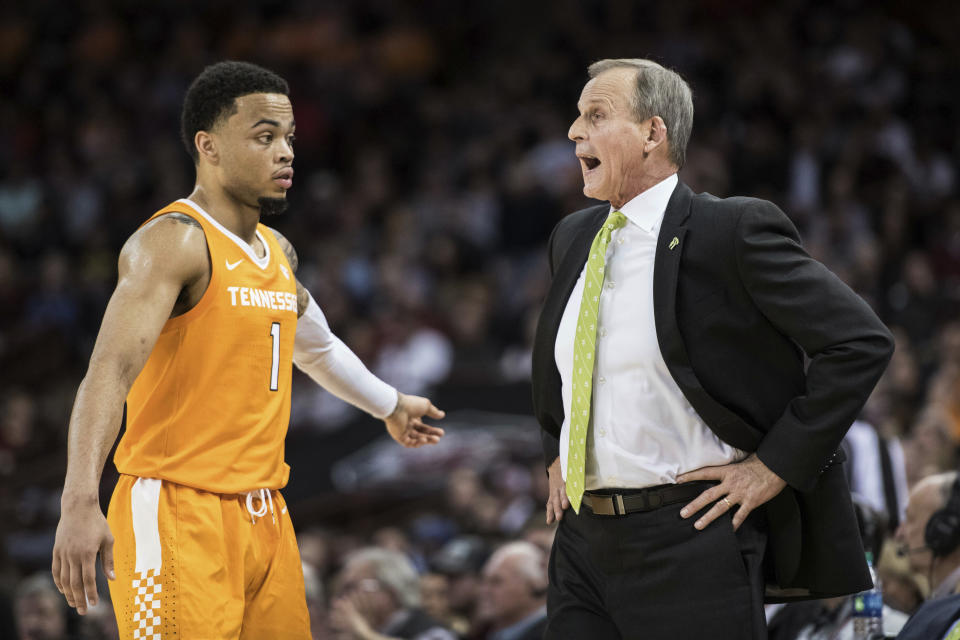
<svg viewBox="0 0 960 640"><path fill-rule="evenodd" d="M202 228L169 214L144 225L120 252L117 287L80 383L67 436L67 475L53 550L53 579L71 607L98 601L96 558L113 578L113 536L99 503L100 475L123 404L164 323L203 295L210 263Z"/></svg>

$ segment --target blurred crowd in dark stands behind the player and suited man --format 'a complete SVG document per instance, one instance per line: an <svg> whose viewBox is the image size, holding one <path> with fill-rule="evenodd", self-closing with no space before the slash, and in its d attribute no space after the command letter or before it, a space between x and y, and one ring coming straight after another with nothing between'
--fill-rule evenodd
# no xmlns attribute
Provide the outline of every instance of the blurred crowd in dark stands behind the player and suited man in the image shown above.
<svg viewBox="0 0 960 640"><path fill-rule="evenodd" d="M48 568L66 425L118 250L189 193L181 101L225 58L290 82L297 177L268 223L293 241L334 331L412 393L529 378L546 239L589 204L566 138L586 65L642 56L678 70L696 107L681 179L776 202L895 333L845 444L851 485L889 538L908 490L958 465L956 18L866 0L0 6L0 636L16 618L53 625L23 638L109 637L109 615L80 624L31 575ZM292 434L356 419L298 378ZM377 637L413 609L471 638L532 620L544 481L536 460L472 469L466 457L443 496L297 521L317 637ZM930 586L887 556L915 607ZM422 596L398 599L414 581ZM497 602L530 606L516 618Z"/></svg>

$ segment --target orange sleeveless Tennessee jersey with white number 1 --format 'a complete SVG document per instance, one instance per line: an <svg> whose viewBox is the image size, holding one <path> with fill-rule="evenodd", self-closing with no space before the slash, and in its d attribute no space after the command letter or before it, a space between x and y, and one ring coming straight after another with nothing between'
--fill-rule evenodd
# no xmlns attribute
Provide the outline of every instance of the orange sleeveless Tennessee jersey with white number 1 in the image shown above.
<svg viewBox="0 0 960 640"><path fill-rule="evenodd" d="M279 489L290 418L297 288L273 232L264 257L189 200L155 213L196 220L210 251L200 302L167 320L127 396L120 473L215 493Z"/></svg>

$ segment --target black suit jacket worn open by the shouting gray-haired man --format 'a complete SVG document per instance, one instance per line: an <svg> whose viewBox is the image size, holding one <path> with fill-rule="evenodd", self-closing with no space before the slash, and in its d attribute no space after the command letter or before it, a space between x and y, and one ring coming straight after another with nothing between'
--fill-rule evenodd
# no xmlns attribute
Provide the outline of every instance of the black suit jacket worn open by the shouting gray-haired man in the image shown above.
<svg viewBox="0 0 960 640"><path fill-rule="evenodd" d="M557 330L608 212L607 204L578 211L550 236L553 283L533 351L547 464L564 417ZM763 507L768 600L868 588L838 449L886 368L890 332L804 252L775 205L694 194L683 183L660 227L653 298L660 351L687 400L724 442L756 452L787 482Z"/></svg>

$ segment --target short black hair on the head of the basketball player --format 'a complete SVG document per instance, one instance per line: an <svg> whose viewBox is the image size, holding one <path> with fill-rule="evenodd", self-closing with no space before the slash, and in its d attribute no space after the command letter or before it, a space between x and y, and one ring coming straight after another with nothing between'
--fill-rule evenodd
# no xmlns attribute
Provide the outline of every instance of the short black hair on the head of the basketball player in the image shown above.
<svg viewBox="0 0 960 640"><path fill-rule="evenodd" d="M200 160L193 139L209 131L221 118L236 113L236 99L251 93L290 95L287 81L249 62L227 60L208 66L187 89L180 114L180 135L194 162Z"/></svg>

